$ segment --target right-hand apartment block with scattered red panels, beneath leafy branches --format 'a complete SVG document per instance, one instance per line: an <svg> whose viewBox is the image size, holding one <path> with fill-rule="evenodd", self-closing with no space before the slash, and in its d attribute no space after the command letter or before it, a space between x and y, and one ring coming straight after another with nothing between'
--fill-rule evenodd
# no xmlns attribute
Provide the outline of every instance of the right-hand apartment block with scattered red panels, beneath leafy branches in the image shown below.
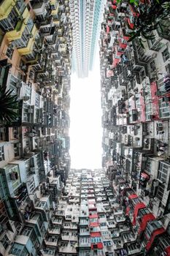
<svg viewBox="0 0 170 256"><path fill-rule="evenodd" d="M128 42L135 15L138 13L127 1L107 1L101 23L102 163L120 202L128 208L127 215L130 212L130 218L139 218L142 232L145 230L144 253L169 255L169 249L163 252L166 246L161 244L150 249L152 236L147 232L151 235L148 230L156 226L169 230L170 105L166 83L170 37L166 30L155 29L155 38L144 39L144 48L138 38ZM165 22L169 24L169 19ZM128 189L133 189L133 199L129 199ZM121 199L124 193L127 201ZM139 211L140 207L145 210ZM143 225L141 218L150 222ZM134 221L134 228L139 224ZM169 245L163 235L157 238Z"/></svg>

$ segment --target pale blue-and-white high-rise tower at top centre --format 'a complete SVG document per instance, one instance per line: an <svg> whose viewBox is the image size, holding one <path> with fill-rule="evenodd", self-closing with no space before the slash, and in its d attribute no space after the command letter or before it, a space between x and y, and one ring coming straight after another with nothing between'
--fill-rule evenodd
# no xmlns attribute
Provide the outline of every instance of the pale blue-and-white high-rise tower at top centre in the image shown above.
<svg viewBox="0 0 170 256"><path fill-rule="evenodd" d="M88 77L88 71L93 69L103 7L104 0L70 1L73 62L80 78Z"/></svg>

